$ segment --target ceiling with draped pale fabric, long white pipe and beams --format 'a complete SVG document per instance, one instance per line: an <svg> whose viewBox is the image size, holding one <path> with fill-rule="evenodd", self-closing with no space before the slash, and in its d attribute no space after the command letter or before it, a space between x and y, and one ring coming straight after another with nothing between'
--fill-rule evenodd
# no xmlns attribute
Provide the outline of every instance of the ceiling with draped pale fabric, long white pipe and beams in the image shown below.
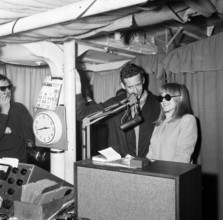
<svg viewBox="0 0 223 220"><path fill-rule="evenodd" d="M89 46L78 57L80 63L105 64L137 54L167 53L221 32L222 12L223 4L214 0L0 1L0 60L44 64L20 44L62 44L69 39Z"/></svg>

